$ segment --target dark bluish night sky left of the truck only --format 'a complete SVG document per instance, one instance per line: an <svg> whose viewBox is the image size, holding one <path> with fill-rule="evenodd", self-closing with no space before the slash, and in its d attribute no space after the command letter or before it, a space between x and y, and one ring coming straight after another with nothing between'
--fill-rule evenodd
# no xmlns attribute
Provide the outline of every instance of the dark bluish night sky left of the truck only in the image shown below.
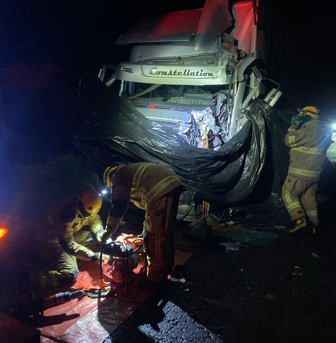
<svg viewBox="0 0 336 343"><path fill-rule="evenodd" d="M114 42L145 17L190 8L178 1L143 4L1 2L0 76L10 163L43 162L67 153L81 119L79 81L89 66L127 59L129 50ZM194 1L191 8L203 4Z"/></svg>

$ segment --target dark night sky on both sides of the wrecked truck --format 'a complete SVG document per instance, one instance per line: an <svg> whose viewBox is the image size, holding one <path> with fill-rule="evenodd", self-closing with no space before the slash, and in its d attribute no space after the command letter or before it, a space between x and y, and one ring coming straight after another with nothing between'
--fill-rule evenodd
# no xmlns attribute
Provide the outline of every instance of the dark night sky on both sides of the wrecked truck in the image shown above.
<svg viewBox="0 0 336 343"><path fill-rule="evenodd" d="M266 4L265 15L276 19L268 22L266 40L270 76L280 82L293 106L316 105L333 112L335 33L328 25L332 9L289 0L260 1ZM92 63L127 59L128 50L114 45L127 28L153 14L203 4L204 0L193 1L192 7L177 0L135 5L107 0L3 0L0 75L10 162L44 161L68 152L81 119L81 75Z"/></svg>

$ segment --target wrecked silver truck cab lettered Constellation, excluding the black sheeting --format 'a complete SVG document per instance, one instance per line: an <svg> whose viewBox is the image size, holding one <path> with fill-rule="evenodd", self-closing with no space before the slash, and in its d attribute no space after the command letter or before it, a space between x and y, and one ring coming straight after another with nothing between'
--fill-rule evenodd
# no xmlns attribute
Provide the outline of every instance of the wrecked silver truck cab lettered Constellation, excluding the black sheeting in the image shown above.
<svg viewBox="0 0 336 343"><path fill-rule="evenodd" d="M152 17L119 37L116 44L132 46L129 61L119 63L109 78L111 66L105 65L99 78L108 86L119 83L121 97L190 145L219 149L266 90L256 66L258 32L251 22L256 10L253 1L233 4L234 19L226 1L206 1L201 10ZM238 26L228 34L232 21ZM271 106L281 95L274 84L262 96Z"/></svg>

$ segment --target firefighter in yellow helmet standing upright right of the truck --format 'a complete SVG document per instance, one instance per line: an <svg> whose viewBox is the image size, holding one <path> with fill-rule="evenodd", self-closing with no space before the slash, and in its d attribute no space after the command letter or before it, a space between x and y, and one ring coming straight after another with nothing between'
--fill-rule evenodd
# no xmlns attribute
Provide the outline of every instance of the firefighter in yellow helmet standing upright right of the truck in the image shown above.
<svg viewBox="0 0 336 343"><path fill-rule="evenodd" d="M290 233L319 230L316 190L320 179L330 136L319 119L315 106L302 108L294 116L285 137L290 147L288 176L282 188L282 198L292 223Z"/></svg>

